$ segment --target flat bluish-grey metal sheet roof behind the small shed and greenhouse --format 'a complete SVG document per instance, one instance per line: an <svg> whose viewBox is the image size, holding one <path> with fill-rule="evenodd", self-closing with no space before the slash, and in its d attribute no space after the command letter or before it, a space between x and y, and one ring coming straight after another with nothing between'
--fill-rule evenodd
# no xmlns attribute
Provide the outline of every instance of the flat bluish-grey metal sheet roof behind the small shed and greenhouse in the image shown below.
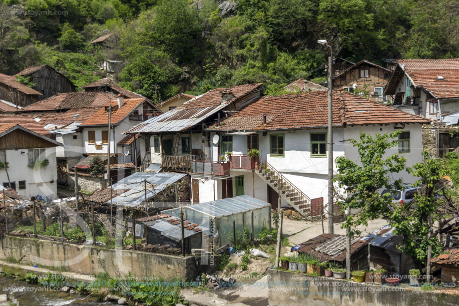
<svg viewBox="0 0 459 306"><path fill-rule="evenodd" d="M112 199L113 203L121 206L136 207L145 199L144 181L147 181L147 199L162 191L166 186L182 179L186 174L172 172L137 172L123 178L113 185L113 189L129 189ZM110 203L110 200L106 202Z"/></svg>

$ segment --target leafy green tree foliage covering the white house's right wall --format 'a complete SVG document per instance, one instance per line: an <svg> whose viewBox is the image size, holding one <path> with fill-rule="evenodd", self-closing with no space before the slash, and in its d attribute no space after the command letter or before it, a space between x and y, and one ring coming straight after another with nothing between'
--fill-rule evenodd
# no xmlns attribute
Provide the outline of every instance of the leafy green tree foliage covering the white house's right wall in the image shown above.
<svg viewBox="0 0 459 306"><path fill-rule="evenodd" d="M389 194L380 195L378 189L399 190L401 179L392 182L392 174L402 171L405 167L405 157L398 154L385 157L385 152L396 146L400 131L390 135L376 134L371 137L366 133L360 134L357 142L350 142L357 147L361 166L352 160L340 156L336 158L338 174L335 181L344 191L338 195L338 204L343 212L347 209L360 209L356 215L347 215L342 228L349 228L349 235L359 235L356 229L359 225L368 225L369 220L378 218L382 213L387 213L391 207Z"/></svg>

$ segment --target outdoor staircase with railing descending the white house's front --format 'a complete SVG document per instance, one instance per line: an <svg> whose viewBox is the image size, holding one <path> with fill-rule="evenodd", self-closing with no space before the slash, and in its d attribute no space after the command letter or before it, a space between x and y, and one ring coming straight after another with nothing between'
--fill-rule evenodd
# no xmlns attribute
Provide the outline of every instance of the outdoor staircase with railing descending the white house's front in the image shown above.
<svg viewBox="0 0 459 306"><path fill-rule="evenodd" d="M311 215L311 199L261 156L258 158L258 170L255 172L303 217Z"/></svg>

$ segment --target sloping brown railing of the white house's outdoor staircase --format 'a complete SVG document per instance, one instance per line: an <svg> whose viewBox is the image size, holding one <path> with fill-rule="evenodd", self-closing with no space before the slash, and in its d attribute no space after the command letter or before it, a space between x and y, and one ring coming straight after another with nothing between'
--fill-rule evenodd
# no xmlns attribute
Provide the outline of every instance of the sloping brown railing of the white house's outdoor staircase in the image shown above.
<svg viewBox="0 0 459 306"><path fill-rule="evenodd" d="M285 193L287 197L291 198L302 209L311 210L311 198L305 195L261 156L258 157L258 169L265 175L268 175L273 181L276 181L277 189L280 193Z"/></svg>

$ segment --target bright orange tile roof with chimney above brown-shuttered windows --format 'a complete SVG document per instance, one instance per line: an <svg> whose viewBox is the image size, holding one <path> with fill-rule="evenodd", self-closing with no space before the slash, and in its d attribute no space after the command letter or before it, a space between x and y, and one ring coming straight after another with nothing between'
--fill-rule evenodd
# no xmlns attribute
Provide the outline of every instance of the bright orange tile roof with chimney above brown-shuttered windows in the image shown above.
<svg viewBox="0 0 459 306"><path fill-rule="evenodd" d="M146 98L136 98L136 99L124 99L124 104L121 108L112 111L111 114L111 124L118 124L128 115L130 115L136 107L138 107L142 102L146 101ZM106 106L109 105L118 107L118 100L112 100ZM109 122L109 113L105 111L105 107L100 108L96 114L91 116L88 120L83 122L81 126L93 126L93 125L108 125Z"/></svg>

